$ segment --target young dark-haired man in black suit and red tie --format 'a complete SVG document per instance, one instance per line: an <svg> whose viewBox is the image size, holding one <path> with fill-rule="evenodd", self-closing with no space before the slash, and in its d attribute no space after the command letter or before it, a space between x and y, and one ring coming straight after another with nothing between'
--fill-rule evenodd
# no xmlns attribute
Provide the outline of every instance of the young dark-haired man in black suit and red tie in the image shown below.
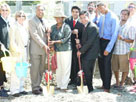
<svg viewBox="0 0 136 102"><path fill-rule="evenodd" d="M72 35L71 35L71 43L72 43L72 65L71 65L71 81L69 84L77 84L77 73L79 71L79 66L78 66L78 60L77 60L77 48L76 48L76 36L81 39L82 36L82 29L83 29L83 24L79 22L79 13L80 13L80 8L77 6L73 6L71 9L72 16L67 18L65 22L70 26L72 30Z"/></svg>

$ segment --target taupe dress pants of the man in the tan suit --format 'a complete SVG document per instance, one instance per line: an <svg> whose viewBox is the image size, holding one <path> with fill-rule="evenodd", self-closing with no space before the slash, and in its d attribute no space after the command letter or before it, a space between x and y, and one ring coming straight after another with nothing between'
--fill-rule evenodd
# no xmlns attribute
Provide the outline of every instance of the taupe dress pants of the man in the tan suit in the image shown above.
<svg viewBox="0 0 136 102"><path fill-rule="evenodd" d="M30 54L32 91L40 89L43 72L45 71L45 58L45 55Z"/></svg>

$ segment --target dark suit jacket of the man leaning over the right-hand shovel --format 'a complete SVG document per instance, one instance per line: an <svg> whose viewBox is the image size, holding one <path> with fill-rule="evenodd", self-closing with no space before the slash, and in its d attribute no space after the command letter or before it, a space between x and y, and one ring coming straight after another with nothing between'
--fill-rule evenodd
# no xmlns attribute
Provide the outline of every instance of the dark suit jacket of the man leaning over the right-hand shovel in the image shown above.
<svg viewBox="0 0 136 102"><path fill-rule="evenodd" d="M99 53L99 34L98 28L89 22L84 28L81 40L81 57L85 60L95 59Z"/></svg>

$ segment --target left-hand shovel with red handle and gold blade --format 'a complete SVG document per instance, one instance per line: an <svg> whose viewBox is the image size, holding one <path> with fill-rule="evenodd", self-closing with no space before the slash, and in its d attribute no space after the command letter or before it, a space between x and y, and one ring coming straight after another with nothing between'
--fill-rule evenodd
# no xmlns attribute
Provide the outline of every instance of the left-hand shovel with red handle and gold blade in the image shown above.
<svg viewBox="0 0 136 102"><path fill-rule="evenodd" d="M48 46L49 46L49 37L48 37ZM51 72L50 72L50 55L49 55L49 51L48 51L48 71L45 74L45 79L47 81L47 86L46 86L46 91L49 95L53 95L54 94L54 86L50 85L50 80L52 79L51 77Z"/></svg>

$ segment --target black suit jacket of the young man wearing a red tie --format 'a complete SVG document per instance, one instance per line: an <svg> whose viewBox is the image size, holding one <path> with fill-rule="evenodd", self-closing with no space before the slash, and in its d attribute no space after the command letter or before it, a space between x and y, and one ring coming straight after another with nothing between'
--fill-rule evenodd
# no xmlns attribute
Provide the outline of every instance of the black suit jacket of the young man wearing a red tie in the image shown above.
<svg viewBox="0 0 136 102"><path fill-rule="evenodd" d="M65 23L67 23L70 26L71 30L78 29L78 32L79 32L78 33L78 38L81 40L84 25L82 23L80 23L79 21L77 21L75 27L73 27L73 17L67 18L65 20ZM71 43L72 43L72 49L73 50L76 50L75 38L76 38L76 35L71 34Z"/></svg>

